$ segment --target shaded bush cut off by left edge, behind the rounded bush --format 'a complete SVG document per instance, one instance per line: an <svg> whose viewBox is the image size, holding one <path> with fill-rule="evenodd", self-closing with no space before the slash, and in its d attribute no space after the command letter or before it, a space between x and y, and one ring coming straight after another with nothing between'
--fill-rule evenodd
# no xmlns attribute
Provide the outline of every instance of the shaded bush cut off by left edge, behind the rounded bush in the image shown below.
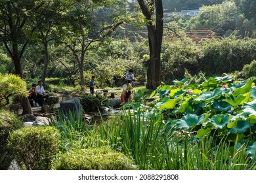
<svg viewBox="0 0 256 183"><path fill-rule="evenodd" d="M7 137L20 127L22 122L14 113L0 110L0 169L7 169L12 160L7 149Z"/></svg>

